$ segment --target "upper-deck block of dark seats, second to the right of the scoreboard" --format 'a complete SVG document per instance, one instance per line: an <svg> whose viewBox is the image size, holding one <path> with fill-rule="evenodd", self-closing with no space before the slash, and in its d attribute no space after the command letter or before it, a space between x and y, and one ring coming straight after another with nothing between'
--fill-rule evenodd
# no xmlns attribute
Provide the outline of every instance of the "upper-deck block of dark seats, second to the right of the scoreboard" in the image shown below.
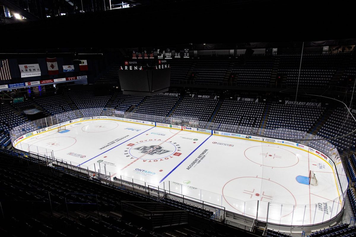
<svg viewBox="0 0 356 237"><path fill-rule="evenodd" d="M199 60L193 70L194 84L220 85L229 68L229 60Z"/></svg>

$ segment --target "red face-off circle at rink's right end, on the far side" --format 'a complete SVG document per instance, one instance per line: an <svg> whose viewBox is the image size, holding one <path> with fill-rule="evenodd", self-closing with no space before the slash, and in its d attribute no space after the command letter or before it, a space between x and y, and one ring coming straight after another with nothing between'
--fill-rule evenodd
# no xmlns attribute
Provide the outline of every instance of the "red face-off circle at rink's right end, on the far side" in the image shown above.
<svg viewBox="0 0 356 237"><path fill-rule="evenodd" d="M253 163L266 167L287 168L299 162L295 153L277 146L252 146L244 154Z"/></svg>

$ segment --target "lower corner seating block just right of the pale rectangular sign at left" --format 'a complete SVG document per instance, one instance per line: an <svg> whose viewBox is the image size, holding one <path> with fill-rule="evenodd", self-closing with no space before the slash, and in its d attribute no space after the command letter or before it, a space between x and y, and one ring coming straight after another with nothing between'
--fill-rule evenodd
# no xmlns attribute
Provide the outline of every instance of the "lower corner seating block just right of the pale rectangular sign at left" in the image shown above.
<svg viewBox="0 0 356 237"><path fill-rule="evenodd" d="M70 111L70 107L62 95L36 97L34 101L52 115Z"/></svg>

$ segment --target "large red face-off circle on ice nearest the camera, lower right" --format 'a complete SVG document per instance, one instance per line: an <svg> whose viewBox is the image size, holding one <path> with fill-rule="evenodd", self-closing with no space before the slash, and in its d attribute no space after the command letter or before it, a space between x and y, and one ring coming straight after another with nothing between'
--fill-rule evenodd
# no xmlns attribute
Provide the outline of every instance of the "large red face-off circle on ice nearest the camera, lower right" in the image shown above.
<svg viewBox="0 0 356 237"><path fill-rule="evenodd" d="M261 188L262 187L262 188ZM231 198L231 197L235 198ZM235 210L244 215L256 217L257 200L260 201L258 208L258 219L266 218L267 203L287 204L282 209L279 206L279 213L274 213L270 209L268 219L279 221L280 217L285 217L293 212L293 205L297 204L294 195L281 184L265 178L259 177L239 177L231 179L223 187L223 198ZM290 208L288 207L290 204Z"/></svg>

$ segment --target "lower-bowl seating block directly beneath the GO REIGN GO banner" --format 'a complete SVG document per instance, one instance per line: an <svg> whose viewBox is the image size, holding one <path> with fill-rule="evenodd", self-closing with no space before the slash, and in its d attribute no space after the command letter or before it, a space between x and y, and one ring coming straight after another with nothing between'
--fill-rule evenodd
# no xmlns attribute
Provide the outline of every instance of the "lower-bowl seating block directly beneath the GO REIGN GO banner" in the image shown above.
<svg viewBox="0 0 356 237"><path fill-rule="evenodd" d="M225 100L213 122L258 128L264 108L265 103ZM216 126L218 125L215 125L215 129L217 129Z"/></svg>

